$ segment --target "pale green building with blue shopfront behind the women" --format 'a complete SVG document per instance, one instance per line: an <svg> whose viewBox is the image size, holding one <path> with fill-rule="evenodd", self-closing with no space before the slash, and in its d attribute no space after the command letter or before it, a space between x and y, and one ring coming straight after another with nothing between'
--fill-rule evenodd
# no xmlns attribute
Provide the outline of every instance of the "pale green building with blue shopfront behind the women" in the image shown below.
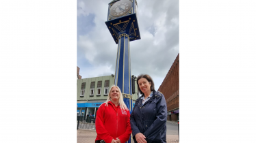
<svg viewBox="0 0 256 143"><path fill-rule="evenodd" d="M138 99L138 86L135 83L135 93L132 95L133 106ZM97 110L107 100L110 87L114 85L114 75L94 78L77 79L77 115L97 116Z"/></svg>

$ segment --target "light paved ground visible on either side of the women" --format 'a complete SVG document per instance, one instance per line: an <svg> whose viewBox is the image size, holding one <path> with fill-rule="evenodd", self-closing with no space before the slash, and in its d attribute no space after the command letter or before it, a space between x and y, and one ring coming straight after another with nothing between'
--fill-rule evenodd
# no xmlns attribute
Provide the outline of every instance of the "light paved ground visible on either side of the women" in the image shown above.
<svg viewBox="0 0 256 143"><path fill-rule="evenodd" d="M77 143L94 143L96 136L96 131L88 129L77 129ZM179 143L178 140L178 135L166 135L167 143Z"/></svg>

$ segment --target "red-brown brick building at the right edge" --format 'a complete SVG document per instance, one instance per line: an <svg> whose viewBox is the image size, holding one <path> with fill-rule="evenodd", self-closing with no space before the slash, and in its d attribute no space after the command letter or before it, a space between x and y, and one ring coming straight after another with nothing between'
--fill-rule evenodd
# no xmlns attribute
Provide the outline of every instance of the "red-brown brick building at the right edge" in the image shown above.
<svg viewBox="0 0 256 143"><path fill-rule="evenodd" d="M164 94L167 105L167 120L179 119L179 54L169 69L158 91Z"/></svg>

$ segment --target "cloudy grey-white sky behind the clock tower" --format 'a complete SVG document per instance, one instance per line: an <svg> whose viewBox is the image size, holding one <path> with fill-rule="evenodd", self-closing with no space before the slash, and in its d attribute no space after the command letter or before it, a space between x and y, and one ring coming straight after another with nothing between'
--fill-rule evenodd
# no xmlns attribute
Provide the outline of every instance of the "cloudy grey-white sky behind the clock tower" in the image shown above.
<svg viewBox="0 0 256 143"><path fill-rule="evenodd" d="M77 66L82 78L115 74L117 46L105 25L112 0L77 0ZM179 54L179 1L137 0L141 39L130 42L131 74L149 74L155 90Z"/></svg>

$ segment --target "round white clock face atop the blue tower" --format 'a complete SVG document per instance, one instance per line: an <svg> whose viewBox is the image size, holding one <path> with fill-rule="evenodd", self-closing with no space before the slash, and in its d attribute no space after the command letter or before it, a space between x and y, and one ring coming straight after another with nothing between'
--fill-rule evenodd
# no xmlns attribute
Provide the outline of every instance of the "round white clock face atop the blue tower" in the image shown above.
<svg viewBox="0 0 256 143"><path fill-rule="evenodd" d="M114 3L110 8L110 14L112 16L123 16L126 14L131 8L131 1L129 0L120 0Z"/></svg>

